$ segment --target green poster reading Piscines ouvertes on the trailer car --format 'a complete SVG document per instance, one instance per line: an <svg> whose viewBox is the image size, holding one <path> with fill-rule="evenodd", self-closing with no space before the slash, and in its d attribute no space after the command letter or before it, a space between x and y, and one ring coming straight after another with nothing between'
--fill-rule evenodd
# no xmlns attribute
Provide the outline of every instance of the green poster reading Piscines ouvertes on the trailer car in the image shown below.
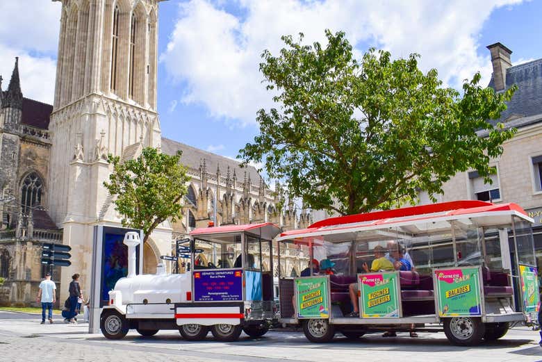
<svg viewBox="0 0 542 362"><path fill-rule="evenodd" d="M397 272L359 274L358 282L361 292L361 317L400 318Z"/></svg>

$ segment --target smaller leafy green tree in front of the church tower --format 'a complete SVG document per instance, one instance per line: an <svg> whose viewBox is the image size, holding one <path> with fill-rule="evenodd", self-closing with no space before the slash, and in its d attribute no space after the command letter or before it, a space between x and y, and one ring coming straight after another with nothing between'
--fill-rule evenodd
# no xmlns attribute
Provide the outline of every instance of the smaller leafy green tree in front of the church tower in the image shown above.
<svg viewBox="0 0 542 362"><path fill-rule="evenodd" d="M109 155L113 173L104 182L115 195L115 209L122 215L122 225L141 229L143 242L161 222L168 218L175 222L181 217L181 199L186 195L190 177L179 163L181 151L170 156L152 147L143 149L136 159L121 161Z"/></svg>

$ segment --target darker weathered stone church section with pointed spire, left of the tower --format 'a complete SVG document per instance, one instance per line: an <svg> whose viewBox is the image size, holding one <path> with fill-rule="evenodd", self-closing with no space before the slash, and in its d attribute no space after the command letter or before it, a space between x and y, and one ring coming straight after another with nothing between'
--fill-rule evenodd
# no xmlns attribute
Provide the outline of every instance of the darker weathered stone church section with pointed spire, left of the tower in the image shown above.
<svg viewBox="0 0 542 362"><path fill-rule="evenodd" d="M49 196L52 106L23 97L18 59L0 96L0 304L28 303L44 274L41 243L62 240L43 207ZM60 277L60 270L54 272Z"/></svg>

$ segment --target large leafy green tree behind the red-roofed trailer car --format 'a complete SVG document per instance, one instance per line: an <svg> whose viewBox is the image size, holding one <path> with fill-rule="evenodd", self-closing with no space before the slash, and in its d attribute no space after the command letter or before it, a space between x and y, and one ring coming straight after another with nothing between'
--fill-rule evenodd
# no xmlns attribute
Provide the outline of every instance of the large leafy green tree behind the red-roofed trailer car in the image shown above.
<svg viewBox="0 0 542 362"><path fill-rule="evenodd" d="M370 49L361 61L342 32L328 44L283 36L279 56L262 54L260 70L279 108L259 110L260 134L240 150L243 163L263 162L291 197L313 209L353 214L434 195L457 172L488 179L490 158L515 130L493 126L515 87L496 94L478 85L443 87L435 69L423 74L418 54L392 60ZM478 137L477 131L488 136Z"/></svg>

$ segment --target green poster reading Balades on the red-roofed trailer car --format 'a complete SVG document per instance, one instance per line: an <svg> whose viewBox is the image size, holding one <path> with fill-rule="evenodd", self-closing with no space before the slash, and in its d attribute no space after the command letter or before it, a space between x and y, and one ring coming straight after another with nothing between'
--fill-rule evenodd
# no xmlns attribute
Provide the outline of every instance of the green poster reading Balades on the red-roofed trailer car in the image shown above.
<svg viewBox="0 0 542 362"><path fill-rule="evenodd" d="M435 270L438 315L482 315L479 268Z"/></svg>

